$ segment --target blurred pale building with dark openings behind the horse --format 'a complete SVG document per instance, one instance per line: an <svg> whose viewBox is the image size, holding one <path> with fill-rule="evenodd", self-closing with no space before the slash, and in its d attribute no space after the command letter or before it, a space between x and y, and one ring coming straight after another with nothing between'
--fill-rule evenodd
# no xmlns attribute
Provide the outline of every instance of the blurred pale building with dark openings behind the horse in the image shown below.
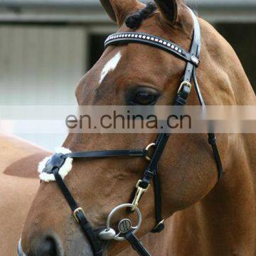
<svg viewBox="0 0 256 256"><path fill-rule="evenodd" d="M187 4L230 42L255 86L256 1ZM98 0L0 0L0 105L75 105L75 86L116 30ZM50 150L65 138L19 135Z"/></svg>

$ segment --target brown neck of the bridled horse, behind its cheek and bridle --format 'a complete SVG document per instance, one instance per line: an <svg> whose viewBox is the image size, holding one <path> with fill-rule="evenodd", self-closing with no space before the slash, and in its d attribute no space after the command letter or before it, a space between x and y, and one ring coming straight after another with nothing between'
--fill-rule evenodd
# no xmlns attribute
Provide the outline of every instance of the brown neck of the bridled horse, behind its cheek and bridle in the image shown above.
<svg viewBox="0 0 256 256"><path fill-rule="evenodd" d="M206 21L201 20L201 28L203 68L198 68L198 82L206 105L255 105L254 92L234 50ZM216 136L223 178L201 201L166 220L168 233L159 236L164 248L161 255L255 255L256 136Z"/></svg>

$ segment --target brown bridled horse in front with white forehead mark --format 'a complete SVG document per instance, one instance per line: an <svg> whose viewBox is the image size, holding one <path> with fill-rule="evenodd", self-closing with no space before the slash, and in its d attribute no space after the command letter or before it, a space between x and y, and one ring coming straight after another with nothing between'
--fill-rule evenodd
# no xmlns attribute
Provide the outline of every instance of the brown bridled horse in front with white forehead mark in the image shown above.
<svg viewBox="0 0 256 256"><path fill-rule="evenodd" d="M101 3L118 24L119 33L146 33L173 41L186 51L190 49L195 22L183 1L155 0L154 6L146 7L137 0ZM197 78L206 105L255 105L255 93L233 48L213 26L199 17L198 21L201 57ZM177 85L187 64L176 57L162 47L138 42L109 46L80 80L75 90L78 105L170 105L176 99ZM198 64L195 58L193 62ZM196 81L193 85L196 87ZM196 90L191 90L188 105L198 105ZM144 149L155 139L156 134L70 133L63 147L65 154ZM161 155L161 215L168 225L164 233L150 235L149 249L155 255L256 253L255 134L217 135L223 167L220 179L206 139L205 134L172 134ZM55 155L50 164L53 160L55 164L63 161L60 155ZM142 157L75 159L72 171L65 176L65 185L58 171L51 170L49 175L56 182L41 182L23 225L19 255L118 255L128 250L128 242L98 241L92 229L97 232L105 228L110 212L131 201L134 185L147 164ZM149 187L139 202L143 225L138 238L149 234L156 225L153 188ZM70 214L68 203L74 198L81 208ZM129 217L125 225L136 221L134 214L123 214ZM112 225L122 230L120 217L114 215ZM82 233L84 228L90 233L87 237ZM131 237L128 233L127 240ZM102 251L95 254L92 243L96 242L102 243ZM134 245L142 249L140 242Z"/></svg>

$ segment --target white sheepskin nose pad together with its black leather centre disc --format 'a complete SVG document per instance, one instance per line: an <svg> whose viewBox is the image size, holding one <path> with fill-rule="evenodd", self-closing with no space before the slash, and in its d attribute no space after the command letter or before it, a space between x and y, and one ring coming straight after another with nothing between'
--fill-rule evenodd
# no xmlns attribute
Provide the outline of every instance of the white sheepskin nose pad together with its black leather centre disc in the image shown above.
<svg viewBox="0 0 256 256"><path fill-rule="evenodd" d="M67 176L72 169L73 159L70 157L67 157L66 159L61 159L59 156L69 153L71 153L70 149L58 147L55 149L55 154L43 159L43 161L38 164L39 178L41 179L41 181L55 181L55 176L51 168L55 164L60 165L60 170L58 173L60 174L61 178L65 178L65 176Z"/></svg>

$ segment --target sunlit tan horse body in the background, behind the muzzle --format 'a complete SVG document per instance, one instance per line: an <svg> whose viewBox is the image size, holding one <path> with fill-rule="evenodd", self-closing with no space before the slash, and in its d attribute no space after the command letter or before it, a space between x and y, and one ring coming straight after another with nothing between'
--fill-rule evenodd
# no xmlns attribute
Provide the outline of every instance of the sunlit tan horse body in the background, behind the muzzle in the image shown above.
<svg viewBox="0 0 256 256"><path fill-rule="evenodd" d="M15 255L22 225L39 187L38 161L50 152L4 134L0 144L0 255Z"/></svg>

